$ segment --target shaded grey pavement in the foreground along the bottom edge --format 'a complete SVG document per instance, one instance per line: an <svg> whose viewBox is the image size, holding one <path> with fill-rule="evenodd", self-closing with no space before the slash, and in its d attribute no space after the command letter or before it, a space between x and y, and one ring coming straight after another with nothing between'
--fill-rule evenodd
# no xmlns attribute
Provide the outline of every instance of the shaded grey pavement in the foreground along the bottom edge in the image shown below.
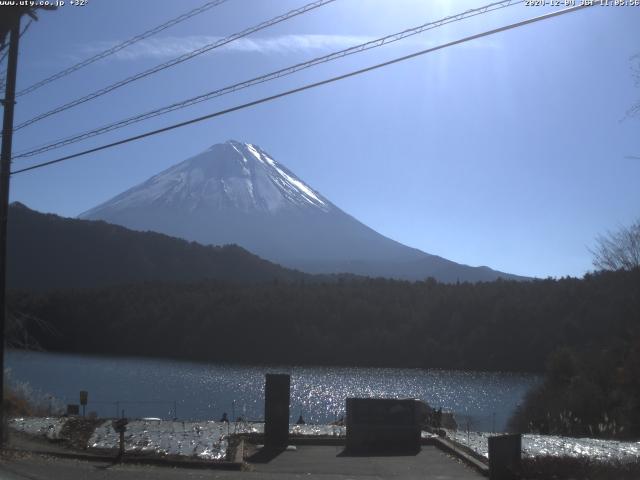
<svg viewBox="0 0 640 480"><path fill-rule="evenodd" d="M62 460L36 455L0 460L0 480L478 480L479 473L437 450L423 447L418 455L345 457L338 447L298 447L267 463L254 463L251 471L191 470L170 467L112 465Z"/></svg>

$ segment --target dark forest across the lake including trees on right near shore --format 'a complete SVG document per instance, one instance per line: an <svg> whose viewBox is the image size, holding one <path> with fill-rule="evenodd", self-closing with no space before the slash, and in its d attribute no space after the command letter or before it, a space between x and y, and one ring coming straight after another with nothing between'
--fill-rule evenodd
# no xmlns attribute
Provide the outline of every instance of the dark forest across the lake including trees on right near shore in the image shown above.
<svg viewBox="0 0 640 480"><path fill-rule="evenodd" d="M640 267L621 258L596 255L617 271L531 282L302 276L14 290L8 334L75 353L544 371L513 430L638 438Z"/></svg>

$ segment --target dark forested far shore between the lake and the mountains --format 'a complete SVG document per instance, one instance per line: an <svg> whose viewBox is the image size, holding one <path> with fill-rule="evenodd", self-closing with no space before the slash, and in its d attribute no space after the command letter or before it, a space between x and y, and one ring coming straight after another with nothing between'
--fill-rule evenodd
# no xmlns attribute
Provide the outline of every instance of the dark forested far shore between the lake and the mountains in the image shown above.
<svg viewBox="0 0 640 480"><path fill-rule="evenodd" d="M202 360L542 371L560 347L638 338L640 272L585 279L147 283L13 293L51 350Z"/></svg>

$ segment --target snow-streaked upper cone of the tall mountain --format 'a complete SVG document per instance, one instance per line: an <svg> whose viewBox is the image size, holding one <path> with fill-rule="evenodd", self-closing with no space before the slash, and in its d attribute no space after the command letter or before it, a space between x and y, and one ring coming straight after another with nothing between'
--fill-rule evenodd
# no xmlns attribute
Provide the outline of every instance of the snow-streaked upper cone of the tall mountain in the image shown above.
<svg viewBox="0 0 640 480"><path fill-rule="evenodd" d="M212 145L146 182L81 215L146 207L186 211L320 210L331 202L257 145L228 140Z"/></svg>

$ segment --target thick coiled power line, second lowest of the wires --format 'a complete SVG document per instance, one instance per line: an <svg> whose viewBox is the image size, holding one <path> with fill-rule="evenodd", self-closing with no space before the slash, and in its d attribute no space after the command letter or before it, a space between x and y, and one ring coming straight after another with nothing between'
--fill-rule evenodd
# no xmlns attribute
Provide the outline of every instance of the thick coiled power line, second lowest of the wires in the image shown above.
<svg viewBox="0 0 640 480"><path fill-rule="evenodd" d="M192 97L180 102L176 102L143 114L139 114L133 117L129 117L126 118L124 120L119 120L117 122L108 124L108 125L104 125L102 127L93 129L93 130L89 130L89 131L85 131L70 137L65 137L63 139L59 139L56 140L52 143L49 144L45 144L42 146L39 146L37 148L33 148L32 150L28 150L28 151L23 151L22 153L18 153L17 155L14 155L13 159L19 159L19 158L26 158L26 157L32 157L34 155L39 155L41 153L44 152L48 152L50 150L55 150L57 148L61 148L64 146L68 146L71 145L73 143L77 143L79 141L82 140L86 140L88 138L92 138L98 135L102 135L104 133L108 133L111 132L113 130L117 130L129 125L132 125L134 123L138 123L141 122L143 120L148 120L150 118L153 117L157 117L159 115L163 115L166 113L170 113L173 112L175 110L179 110L182 108L186 108L207 100L211 100L213 98L216 97L220 97L222 95L226 95L229 93L234 93L237 92L239 90L245 89L245 88L249 88L261 83L265 83L271 80L275 80L278 78L282 78L288 75L291 75L293 73L299 72L301 70L305 70L307 68L311 68L313 66L322 64L322 63L327 63L339 58L344 58L348 55L353 55L356 53L360 53L360 52L364 52L373 48L377 48L377 47L381 47L383 45L387 45L389 43L393 43L393 42L397 42L399 40L402 40L404 38L413 36L413 35L417 35L420 33L424 33L427 30L431 30L437 27L441 27L442 25L446 25L449 23L453 23L453 22L457 22L457 21L461 21L467 18L471 18L474 17L476 15L481 15L481 14L485 14L488 12L492 12L494 10L498 10L498 9L502 9L502 8L506 8L509 6L513 6L513 5L517 5L517 4L521 4L523 3L524 0L503 0L500 2L494 2L494 3L490 3L488 5L485 5L483 7L478 7L478 8L474 8L471 10L467 10L464 11L462 13L456 14L456 15L451 15L445 18L442 18L440 20L437 21L432 21L432 22L428 22L422 25L419 25L417 27L413 27L413 28L409 28L406 30L403 30L402 32L399 33L394 33L391 35L387 35L385 37L381 37L378 38L376 40L371 40L369 42L365 42L353 47L349 47L343 50L339 50L337 52L333 52L330 53L328 55L324 55L321 57L317 57L314 58L312 60L306 61L306 62L302 62L302 63L298 63L296 65L290 66L290 67L286 67L280 70L276 70L274 72L271 73L267 73L265 75L261 75L259 77L255 77L252 78L250 80L245 80L243 82L239 82L239 83L235 83L233 85L229 85L217 90L213 90L207 93L204 93L202 95L198 95L196 97Z"/></svg>

